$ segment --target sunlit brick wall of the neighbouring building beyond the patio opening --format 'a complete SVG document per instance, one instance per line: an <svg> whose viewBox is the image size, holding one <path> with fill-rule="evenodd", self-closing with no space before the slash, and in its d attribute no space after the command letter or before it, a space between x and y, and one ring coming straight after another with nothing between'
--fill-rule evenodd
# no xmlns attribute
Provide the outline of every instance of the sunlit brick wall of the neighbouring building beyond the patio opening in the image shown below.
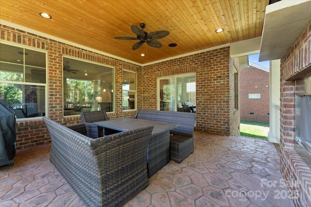
<svg viewBox="0 0 311 207"><path fill-rule="evenodd" d="M269 86L269 72L253 66L240 70L242 120L269 123L269 87L266 86ZM260 94L260 98L248 98L248 94Z"/></svg>

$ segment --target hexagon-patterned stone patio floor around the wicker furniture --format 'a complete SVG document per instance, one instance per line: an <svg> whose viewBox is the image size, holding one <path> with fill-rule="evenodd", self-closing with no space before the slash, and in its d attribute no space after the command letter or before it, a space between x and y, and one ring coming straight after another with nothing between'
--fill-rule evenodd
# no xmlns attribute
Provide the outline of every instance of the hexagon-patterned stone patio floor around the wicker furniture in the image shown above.
<svg viewBox="0 0 311 207"><path fill-rule="evenodd" d="M265 140L194 132L194 152L170 161L124 207L294 207L278 146ZM49 161L51 145L18 150L0 167L1 207L85 207Z"/></svg>

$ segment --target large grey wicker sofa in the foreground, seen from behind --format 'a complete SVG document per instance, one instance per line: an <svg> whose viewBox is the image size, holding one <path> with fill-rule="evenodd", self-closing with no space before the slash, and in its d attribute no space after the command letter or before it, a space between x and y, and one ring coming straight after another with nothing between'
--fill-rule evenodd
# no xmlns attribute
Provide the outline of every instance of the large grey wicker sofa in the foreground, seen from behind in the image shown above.
<svg viewBox="0 0 311 207"><path fill-rule="evenodd" d="M121 206L148 186L146 152L153 126L89 138L87 123L65 127L43 117L50 161L86 206Z"/></svg>

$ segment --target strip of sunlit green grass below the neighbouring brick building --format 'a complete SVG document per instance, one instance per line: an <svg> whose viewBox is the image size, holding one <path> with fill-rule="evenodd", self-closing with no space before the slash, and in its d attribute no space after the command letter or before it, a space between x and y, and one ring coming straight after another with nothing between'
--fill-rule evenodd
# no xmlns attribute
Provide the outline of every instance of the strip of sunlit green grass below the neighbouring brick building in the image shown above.
<svg viewBox="0 0 311 207"><path fill-rule="evenodd" d="M268 139L269 123L241 120L240 134L246 137Z"/></svg>

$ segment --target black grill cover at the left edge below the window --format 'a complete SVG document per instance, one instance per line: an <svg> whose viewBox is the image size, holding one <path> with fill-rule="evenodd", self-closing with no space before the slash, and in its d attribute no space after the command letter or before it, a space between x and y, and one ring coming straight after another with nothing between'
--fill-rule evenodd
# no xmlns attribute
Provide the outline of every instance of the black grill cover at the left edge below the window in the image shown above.
<svg viewBox="0 0 311 207"><path fill-rule="evenodd" d="M11 104L0 100L0 166L12 163L16 152L16 118Z"/></svg>

